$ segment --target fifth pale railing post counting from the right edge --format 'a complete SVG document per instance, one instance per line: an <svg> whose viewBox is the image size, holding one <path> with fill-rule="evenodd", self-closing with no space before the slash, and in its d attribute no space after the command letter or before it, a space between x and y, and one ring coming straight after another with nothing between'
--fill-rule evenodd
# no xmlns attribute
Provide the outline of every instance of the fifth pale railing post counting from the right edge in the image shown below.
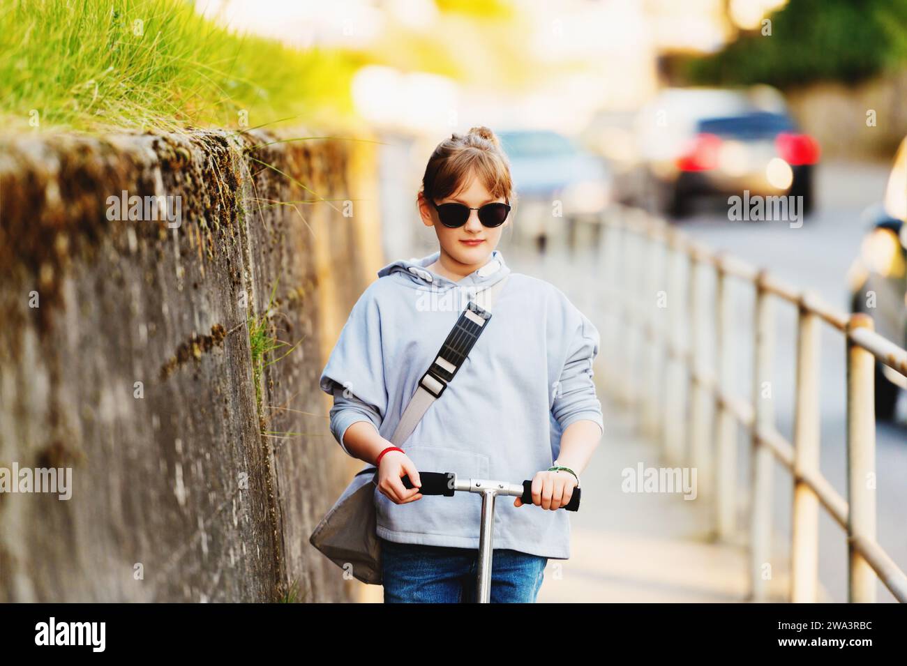
<svg viewBox="0 0 907 666"><path fill-rule="evenodd" d="M699 276L703 263L696 248L689 256L689 451L688 465L697 468L697 497L713 495L712 460L707 428L708 402L701 379L706 375L702 333L705 329L705 307ZM697 379L698 376L698 379Z"/></svg>

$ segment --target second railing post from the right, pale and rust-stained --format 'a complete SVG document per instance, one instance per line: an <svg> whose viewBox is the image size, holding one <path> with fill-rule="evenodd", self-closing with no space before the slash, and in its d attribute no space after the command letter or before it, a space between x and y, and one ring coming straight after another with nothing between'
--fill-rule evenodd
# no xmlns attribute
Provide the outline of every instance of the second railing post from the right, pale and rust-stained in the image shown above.
<svg viewBox="0 0 907 666"><path fill-rule="evenodd" d="M794 422L794 516L791 601L815 603L819 583L819 498L802 474L819 472L819 317L801 299Z"/></svg>

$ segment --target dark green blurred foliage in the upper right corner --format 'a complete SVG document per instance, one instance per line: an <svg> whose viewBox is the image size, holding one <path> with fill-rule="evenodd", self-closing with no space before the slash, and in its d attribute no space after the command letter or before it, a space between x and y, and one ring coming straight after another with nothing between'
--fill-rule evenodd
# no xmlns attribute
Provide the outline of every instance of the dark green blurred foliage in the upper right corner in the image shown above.
<svg viewBox="0 0 907 666"><path fill-rule="evenodd" d="M907 0L791 0L770 36L741 34L719 53L691 59L691 82L779 88L859 82L907 62Z"/></svg>

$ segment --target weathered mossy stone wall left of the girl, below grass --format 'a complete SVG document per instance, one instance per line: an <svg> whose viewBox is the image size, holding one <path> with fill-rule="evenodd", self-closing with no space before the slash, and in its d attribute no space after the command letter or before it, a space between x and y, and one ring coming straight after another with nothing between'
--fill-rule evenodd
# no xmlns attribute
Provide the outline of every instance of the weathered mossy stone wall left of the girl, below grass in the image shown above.
<svg viewBox="0 0 907 666"><path fill-rule="evenodd" d="M0 468L72 469L0 493L0 601L356 598L308 535L351 468L317 378L381 261L362 146L0 140Z"/></svg>

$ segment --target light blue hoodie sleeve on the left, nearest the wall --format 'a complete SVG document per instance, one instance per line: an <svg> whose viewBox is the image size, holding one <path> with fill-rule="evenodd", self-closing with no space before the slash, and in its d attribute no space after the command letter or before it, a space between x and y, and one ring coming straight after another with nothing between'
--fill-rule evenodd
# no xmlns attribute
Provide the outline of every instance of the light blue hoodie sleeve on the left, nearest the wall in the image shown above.
<svg viewBox="0 0 907 666"><path fill-rule="evenodd" d="M378 430L387 409L381 319L374 287L375 283L370 285L353 306L319 380L321 390L334 396L331 433L350 456L343 441L346 429L357 421L369 421Z"/></svg>

